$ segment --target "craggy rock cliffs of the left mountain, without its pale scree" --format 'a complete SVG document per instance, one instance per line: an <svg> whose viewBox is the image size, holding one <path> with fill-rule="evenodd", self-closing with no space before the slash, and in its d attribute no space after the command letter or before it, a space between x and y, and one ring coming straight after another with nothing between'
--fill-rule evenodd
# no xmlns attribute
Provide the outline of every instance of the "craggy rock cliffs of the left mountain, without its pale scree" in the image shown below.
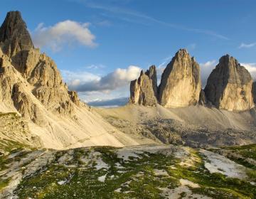
<svg viewBox="0 0 256 199"><path fill-rule="evenodd" d="M46 109L73 117L74 107L79 104L78 95L68 91L53 60L33 47L20 12L11 11L7 14L0 28L0 45L0 83L5 87L0 95L4 101L13 103L23 117L36 124L43 123L38 109L40 106L33 104L33 99L26 91L29 85L33 97ZM17 79L11 76L16 76ZM26 80L26 86L18 78L20 76ZM7 96L9 91L12 92Z"/></svg>

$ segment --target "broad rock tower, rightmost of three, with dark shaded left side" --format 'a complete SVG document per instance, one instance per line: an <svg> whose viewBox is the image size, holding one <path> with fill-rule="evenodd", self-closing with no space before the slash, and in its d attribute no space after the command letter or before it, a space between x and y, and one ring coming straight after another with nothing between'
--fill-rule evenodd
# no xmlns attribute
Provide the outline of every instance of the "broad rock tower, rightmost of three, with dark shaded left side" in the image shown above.
<svg viewBox="0 0 256 199"><path fill-rule="evenodd" d="M238 60L225 55L207 80L207 99L220 109L242 111L253 107L252 77Z"/></svg>

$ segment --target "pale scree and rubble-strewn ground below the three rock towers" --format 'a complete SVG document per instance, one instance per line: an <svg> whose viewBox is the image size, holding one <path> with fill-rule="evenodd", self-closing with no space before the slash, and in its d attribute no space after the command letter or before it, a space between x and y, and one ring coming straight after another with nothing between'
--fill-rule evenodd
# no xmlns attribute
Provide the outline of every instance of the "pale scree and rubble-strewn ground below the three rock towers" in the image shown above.
<svg viewBox="0 0 256 199"><path fill-rule="evenodd" d="M156 143L194 148L256 143L255 109L227 112L203 106L166 109L127 105L96 111L129 136L141 135Z"/></svg>

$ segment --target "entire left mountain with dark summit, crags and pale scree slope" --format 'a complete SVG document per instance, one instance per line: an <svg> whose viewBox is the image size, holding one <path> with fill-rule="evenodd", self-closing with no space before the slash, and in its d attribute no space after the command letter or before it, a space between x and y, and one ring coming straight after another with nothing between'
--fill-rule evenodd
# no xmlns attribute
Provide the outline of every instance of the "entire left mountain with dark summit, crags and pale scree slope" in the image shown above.
<svg viewBox="0 0 256 199"><path fill-rule="evenodd" d="M53 60L33 47L18 11L7 14L0 46L0 112L20 114L41 146L138 144L80 102L76 92L68 91Z"/></svg>

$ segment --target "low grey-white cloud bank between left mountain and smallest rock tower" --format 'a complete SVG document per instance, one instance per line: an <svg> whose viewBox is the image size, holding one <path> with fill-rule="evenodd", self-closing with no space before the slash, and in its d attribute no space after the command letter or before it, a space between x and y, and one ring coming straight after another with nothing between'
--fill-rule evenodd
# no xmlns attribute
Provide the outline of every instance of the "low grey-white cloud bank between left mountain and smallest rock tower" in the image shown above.
<svg viewBox="0 0 256 199"><path fill-rule="evenodd" d="M139 77L141 68L130 65L127 69L117 68L114 72L100 77L90 72L62 71L70 90L78 92L110 92L129 85Z"/></svg>

